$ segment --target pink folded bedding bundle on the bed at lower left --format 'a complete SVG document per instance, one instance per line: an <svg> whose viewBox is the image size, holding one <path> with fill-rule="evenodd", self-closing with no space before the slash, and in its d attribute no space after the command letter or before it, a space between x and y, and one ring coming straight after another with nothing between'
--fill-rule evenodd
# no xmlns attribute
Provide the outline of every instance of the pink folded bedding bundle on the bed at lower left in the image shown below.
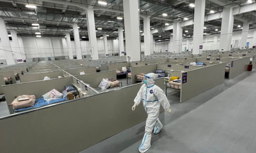
<svg viewBox="0 0 256 153"><path fill-rule="evenodd" d="M23 96L23 95L22 95ZM25 107L31 107L35 105L35 95L28 95L29 99L18 101L18 98L15 98L14 101L12 101L11 106L12 109L21 109Z"/></svg>

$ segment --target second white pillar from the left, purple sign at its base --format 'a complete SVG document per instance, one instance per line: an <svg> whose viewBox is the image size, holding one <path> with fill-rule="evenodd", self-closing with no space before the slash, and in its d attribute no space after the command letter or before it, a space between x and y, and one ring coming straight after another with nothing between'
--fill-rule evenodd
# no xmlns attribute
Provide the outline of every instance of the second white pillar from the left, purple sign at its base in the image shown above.
<svg viewBox="0 0 256 153"><path fill-rule="evenodd" d="M11 30L10 32L11 32L11 35L12 35L12 51L14 51L14 54L16 55L17 62L18 63L23 63L22 53L20 52L17 33L14 30Z"/></svg>

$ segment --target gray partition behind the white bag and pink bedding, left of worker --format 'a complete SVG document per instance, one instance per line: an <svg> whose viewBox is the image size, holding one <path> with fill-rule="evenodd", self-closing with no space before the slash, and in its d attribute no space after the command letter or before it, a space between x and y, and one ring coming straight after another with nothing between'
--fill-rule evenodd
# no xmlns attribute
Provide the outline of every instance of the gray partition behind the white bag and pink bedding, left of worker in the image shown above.
<svg viewBox="0 0 256 153"><path fill-rule="evenodd" d="M104 71L104 72L97 72L97 73L90 73L90 74L83 74L83 75L76 75L76 78L83 81L84 83L89 84L91 87L96 88L101 83L102 79L116 79L116 71Z"/></svg>

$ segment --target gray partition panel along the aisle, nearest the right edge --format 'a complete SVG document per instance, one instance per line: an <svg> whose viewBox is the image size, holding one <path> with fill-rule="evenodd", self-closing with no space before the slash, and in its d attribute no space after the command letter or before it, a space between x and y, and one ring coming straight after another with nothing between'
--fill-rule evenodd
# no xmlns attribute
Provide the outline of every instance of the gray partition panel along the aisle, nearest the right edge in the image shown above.
<svg viewBox="0 0 256 153"><path fill-rule="evenodd" d="M234 78L237 75L242 74L243 72L248 71L248 64L250 63L250 56L235 59L231 61L229 68L229 79ZM233 66L232 66L233 65Z"/></svg>

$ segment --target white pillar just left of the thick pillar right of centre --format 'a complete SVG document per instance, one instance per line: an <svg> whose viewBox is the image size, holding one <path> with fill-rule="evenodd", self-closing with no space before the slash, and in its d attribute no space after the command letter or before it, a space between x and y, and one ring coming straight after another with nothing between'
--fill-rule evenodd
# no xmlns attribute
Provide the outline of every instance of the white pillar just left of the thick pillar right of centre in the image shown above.
<svg viewBox="0 0 256 153"><path fill-rule="evenodd" d="M182 51L182 28L180 22L173 22L173 39L171 41L172 52L179 53Z"/></svg>

